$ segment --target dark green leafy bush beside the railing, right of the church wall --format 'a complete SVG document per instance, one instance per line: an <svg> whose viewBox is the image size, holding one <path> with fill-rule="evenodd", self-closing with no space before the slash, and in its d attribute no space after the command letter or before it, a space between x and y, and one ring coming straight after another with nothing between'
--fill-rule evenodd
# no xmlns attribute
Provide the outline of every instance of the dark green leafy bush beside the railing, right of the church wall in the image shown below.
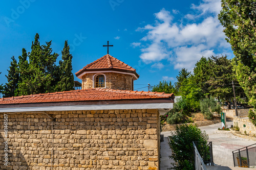
<svg viewBox="0 0 256 170"><path fill-rule="evenodd" d="M170 147L173 150L173 155L170 156L175 160L172 169L194 169L194 153L193 141L199 141L206 144L208 135L202 132L195 125L183 124L176 127L176 131L172 134Z"/></svg>

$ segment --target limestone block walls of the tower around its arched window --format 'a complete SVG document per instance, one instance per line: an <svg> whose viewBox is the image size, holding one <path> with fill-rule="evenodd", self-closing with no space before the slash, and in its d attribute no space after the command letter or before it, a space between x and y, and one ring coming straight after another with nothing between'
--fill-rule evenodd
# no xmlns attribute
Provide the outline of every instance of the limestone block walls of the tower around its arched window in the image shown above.
<svg viewBox="0 0 256 170"><path fill-rule="evenodd" d="M93 76L97 74L86 74L82 77L82 89L93 88ZM104 72L106 88L119 90L132 90L132 76L115 72Z"/></svg>

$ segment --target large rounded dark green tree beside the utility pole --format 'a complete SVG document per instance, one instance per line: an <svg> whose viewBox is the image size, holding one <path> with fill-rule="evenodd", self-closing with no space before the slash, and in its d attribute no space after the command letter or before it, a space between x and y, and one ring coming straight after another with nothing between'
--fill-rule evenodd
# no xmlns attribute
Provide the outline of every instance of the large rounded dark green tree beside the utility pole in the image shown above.
<svg viewBox="0 0 256 170"><path fill-rule="evenodd" d="M227 56L218 57L202 57L194 68L194 81L200 87L204 98L209 98L210 95L218 98L218 100L227 101L230 106L230 101L233 99L233 89L231 82L235 79L231 60ZM234 83L238 83L234 81ZM238 99L245 99L243 89L236 88Z"/></svg>

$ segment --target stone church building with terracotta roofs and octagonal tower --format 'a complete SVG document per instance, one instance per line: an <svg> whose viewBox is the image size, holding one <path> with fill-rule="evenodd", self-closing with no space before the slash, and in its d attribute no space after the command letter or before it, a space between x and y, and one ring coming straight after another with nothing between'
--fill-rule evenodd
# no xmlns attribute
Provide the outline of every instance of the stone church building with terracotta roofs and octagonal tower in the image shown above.
<svg viewBox="0 0 256 170"><path fill-rule="evenodd" d="M159 115L174 94L134 91L136 70L105 55L82 90L0 99L0 169L159 169Z"/></svg>

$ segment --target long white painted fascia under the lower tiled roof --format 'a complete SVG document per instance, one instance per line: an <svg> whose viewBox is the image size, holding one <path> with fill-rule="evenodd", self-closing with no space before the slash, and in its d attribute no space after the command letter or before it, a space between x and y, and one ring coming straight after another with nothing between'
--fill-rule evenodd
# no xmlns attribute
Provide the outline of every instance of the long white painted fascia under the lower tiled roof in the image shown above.
<svg viewBox="0 0 256 170"><path fill-rule="evenodd" d="M113 110L113 109L159 109L160 115L172 109L173 103L141 103L141 104L111 104L111 105L72 105L46 107L16 107L0 108L2 112L32 112L32 111L69 111L69 110Z"/></svg>

